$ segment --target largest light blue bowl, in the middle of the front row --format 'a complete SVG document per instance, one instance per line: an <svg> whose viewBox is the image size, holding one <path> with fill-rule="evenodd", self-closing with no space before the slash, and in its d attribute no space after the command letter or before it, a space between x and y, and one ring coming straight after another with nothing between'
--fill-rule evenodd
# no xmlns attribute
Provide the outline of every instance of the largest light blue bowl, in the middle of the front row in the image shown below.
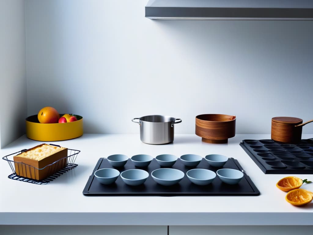
<svg viewBox="0 0 313 235"><path fill-rule="evenodd" d="M173 168L160 168L151 172L152 179L160 185L174 185L184 178L185 174L181 170Z"/></svg>

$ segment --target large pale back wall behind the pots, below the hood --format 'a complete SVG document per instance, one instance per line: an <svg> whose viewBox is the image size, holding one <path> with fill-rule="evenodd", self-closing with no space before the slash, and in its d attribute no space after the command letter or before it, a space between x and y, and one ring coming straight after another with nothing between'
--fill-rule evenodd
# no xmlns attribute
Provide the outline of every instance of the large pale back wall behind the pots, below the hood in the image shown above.
<svg viewBox="0 0 313 235"><path fill-rule="evenodd" d="M150 114L181 118L175 133L203 113L236 115L236 133L313 118L313 21L150 20L146 3L26 1L28 115L80 114L85 133L139 133Z"/></svg>

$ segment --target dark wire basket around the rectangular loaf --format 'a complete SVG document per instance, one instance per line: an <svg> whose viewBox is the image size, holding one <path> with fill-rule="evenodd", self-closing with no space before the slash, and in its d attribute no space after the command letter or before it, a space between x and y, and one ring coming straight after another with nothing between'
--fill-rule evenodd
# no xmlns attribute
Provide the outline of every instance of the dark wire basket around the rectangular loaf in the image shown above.
<svg viewBox="0 0 313 235"><path fill-rule="evenodd" d="M60 147L59 145L56 145L56 144L50 144L50 145ZM77 166L77 164L75 164L74 162L77 158L77 155L80 153L80 150L67 149L67 153L68 153L67 157L61 158L61 159L59 159L59 160L57 160L57 161L55 161L49 165L46 165L43 168L36 168L34 166L31 166L31 165L28 165L28 164L25 164L22 162L15 162L13 160L13 156L20 154L26 150L27 149L22 149L21 151L6 155L2 158L3 160L6 160L8 162L8 164L9 164L9 166L13 172L11 175L8 175L8 178L12 179L12 180L19 180L19 181L33 183L33 184L39 184L39 185L48 184L50 181L55 180L60 175L63 175L65 172L68 172L69 170L72 170L73 168L75 168ZM17 167L18 167L18 173L16 172ZM60 168L62 168L62 169L60 169ZM46 177L45 179L42 179L42 180L34 179L34 178L36 178L36 176L38 177L39 171L45 171L45 172L47 172L47 175L49 175L49 176ZM20 175L29 175L30 178L20 176Z"/></svg>

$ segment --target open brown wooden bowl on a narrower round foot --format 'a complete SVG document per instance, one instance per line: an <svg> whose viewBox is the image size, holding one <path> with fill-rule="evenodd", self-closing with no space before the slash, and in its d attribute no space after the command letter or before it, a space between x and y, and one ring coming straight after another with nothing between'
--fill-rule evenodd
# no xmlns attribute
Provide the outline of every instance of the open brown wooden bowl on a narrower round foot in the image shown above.
<svg viewBox="0 0 313 235"><path fill-rule="evenodd" d="M236 117L225 114L201 114L196 117L196 135L211 144L223 144L235 136Z"/></svg>

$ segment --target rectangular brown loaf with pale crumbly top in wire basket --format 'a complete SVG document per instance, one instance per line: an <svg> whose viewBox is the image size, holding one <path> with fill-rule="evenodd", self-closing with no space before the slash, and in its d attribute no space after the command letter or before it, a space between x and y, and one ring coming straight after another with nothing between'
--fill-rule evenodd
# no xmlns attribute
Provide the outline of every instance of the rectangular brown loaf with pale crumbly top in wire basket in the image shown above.
<svg viewBox="0 0 313 235"><path fill-rule="evenodd" d="M67 148L39 144L13 157L17 175L42 180L67 165Z"/></svg>

